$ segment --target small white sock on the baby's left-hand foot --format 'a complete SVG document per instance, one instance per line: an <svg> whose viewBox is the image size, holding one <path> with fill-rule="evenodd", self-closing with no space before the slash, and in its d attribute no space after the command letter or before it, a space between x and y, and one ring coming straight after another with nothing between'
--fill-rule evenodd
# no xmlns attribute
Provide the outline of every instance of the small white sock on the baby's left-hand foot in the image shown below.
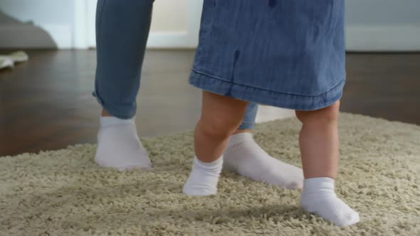
<svg viewBox="0 0 420 236"><path fill-rule="evenodd" d="M182 193L191 196L216 194L222 166L223 156L210 163L200 161L194 156L191 173L182 188Z"/></svg>

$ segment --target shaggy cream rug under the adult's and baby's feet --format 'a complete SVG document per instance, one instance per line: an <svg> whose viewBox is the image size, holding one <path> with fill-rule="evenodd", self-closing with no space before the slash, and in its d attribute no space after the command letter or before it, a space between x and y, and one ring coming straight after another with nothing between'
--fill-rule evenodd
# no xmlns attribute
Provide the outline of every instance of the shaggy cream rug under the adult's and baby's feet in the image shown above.
<svg viewBox="0 0 420 236"><path fill-rule="evenodd" d="M256 127L269 154L300 166L296 119ZM334 227L299 207L299 191L224 173L218 195L182 195L191 132L144 139L153 171L93 162L95 146L0 158L0 235L420 235L420 127L340 119L337 194L361 222Z"/></svg>

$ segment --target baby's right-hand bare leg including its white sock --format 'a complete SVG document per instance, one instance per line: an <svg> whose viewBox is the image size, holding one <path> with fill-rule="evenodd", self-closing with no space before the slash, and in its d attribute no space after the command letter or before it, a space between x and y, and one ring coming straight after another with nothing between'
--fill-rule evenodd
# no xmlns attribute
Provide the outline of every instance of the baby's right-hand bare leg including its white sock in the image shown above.
<svg viewBox="0 0 420 236"><path fill-rule="evenodd" d="M359 222L359 214L337 198L334 191L339 108L340 102L336 102L324 109L296 112L303 123L299 144L305 181L300 201L305 210L335 225L353 225Z"/></svg>

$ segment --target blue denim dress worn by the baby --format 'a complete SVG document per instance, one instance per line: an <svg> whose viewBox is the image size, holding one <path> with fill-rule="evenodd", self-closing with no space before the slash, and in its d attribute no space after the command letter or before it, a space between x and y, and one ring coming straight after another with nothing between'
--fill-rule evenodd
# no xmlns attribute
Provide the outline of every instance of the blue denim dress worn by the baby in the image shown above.
<svg viewBox="0 0 420 236"><path fill-rule="evenodd" d="M190 83L275 107L314 110L345 85L344 0L204 0Z"/></svg>

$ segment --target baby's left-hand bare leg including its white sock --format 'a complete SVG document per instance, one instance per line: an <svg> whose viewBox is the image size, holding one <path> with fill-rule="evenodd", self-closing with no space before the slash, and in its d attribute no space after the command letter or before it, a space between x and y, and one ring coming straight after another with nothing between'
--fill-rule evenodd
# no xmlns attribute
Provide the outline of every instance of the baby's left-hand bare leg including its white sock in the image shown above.
<svg viewBox="0 0 420 236"><path fill-rule="evenodd" d="M194 131L196 156L184 184L186 195L211 195L217 192L217 181L223 166L221 155L229 136L238 129L248 102L203 92L201 117Z"/></svg>

